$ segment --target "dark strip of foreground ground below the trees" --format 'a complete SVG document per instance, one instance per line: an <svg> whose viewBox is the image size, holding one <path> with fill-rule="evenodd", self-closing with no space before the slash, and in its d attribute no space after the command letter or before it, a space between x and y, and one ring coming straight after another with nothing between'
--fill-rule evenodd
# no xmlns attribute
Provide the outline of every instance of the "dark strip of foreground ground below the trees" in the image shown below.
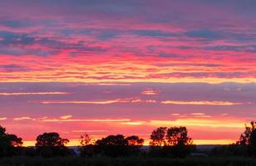
<svg viewBox="0 0 256 166"><path fill-rule="evenodd" d="M256 166L251 158L29 158L13 157L0 159L0 166Z"/></svg>

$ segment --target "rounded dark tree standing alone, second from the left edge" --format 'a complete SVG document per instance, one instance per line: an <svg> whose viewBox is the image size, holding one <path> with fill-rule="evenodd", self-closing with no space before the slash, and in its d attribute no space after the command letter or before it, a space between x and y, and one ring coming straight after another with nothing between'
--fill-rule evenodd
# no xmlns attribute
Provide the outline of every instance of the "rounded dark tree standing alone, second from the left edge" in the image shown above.
<svg viewBox="0 0 256 166"><path fill-rule="evenodd" d="M37 136L36 149L43 157L64 156L70 154L65 146L68 142L57 133L44 133Z"/></svg>

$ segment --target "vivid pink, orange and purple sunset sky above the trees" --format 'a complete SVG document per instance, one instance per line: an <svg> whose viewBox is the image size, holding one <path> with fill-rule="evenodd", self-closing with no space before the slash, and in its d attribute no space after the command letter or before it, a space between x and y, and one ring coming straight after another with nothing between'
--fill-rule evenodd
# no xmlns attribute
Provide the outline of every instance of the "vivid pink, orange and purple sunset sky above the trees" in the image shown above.
<svg viewBox="0 0 256 166"><path fill-rule="evenodd" d="M0 125L58 132L186 126L231 144L256 117L254 0L0 0Z"/></svg>

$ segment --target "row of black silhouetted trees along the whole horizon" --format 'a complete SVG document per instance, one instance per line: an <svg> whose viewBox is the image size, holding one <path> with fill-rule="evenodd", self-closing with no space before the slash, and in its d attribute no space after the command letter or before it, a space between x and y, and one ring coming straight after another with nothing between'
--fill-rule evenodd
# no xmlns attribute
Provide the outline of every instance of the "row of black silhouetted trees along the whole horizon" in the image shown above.
<svg viewBox="0 0 256 166"><path fill-rule="evenodd" d="M43 133L37 136L35 147L23 147L22 138L15 134L7 134L0 126L0 157L27 155L56 157L76 155L74 149L69 149L58 133ZM143 148L144 139L138 135L125 136L111 134L102 139L92 140L89 134L80 137L79 154L81 157L95 156L156 156L184 158L195 151L193 139L188 135L188 129L180 127L159 127L150 134L150 148ZM256 122L245 126L244 133L236 144L218 146L212 149L212 155L245 155L256 156Z"/></svg>

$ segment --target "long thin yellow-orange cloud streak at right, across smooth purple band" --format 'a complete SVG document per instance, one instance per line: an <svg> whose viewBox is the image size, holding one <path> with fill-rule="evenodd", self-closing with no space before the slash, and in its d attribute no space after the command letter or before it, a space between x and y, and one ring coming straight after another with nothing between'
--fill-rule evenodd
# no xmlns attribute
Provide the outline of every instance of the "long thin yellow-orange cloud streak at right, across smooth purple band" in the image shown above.
<svg viewBox="0 0 256 166"><path fill-rule="evenodd" d="M231 101L183 101L183 100L165 100L161 101L161 104L165 105L249 105L250 102L240 103Z"/></svg>

